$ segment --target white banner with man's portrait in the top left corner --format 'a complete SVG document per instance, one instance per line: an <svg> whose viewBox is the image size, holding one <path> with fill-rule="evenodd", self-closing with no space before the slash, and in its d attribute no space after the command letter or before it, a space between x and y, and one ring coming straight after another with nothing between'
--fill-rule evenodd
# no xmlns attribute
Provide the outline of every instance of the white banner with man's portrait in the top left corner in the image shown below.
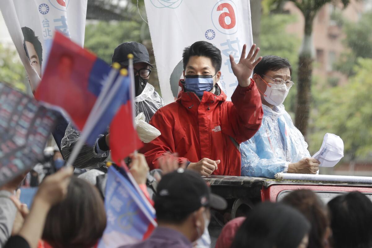
<svg viewBox="0 0 372 248"><path fill-rule="evenodd" d="M55 30L84 44L87 0L1 0L0 10L32 90L47 64Z"/></svg>

